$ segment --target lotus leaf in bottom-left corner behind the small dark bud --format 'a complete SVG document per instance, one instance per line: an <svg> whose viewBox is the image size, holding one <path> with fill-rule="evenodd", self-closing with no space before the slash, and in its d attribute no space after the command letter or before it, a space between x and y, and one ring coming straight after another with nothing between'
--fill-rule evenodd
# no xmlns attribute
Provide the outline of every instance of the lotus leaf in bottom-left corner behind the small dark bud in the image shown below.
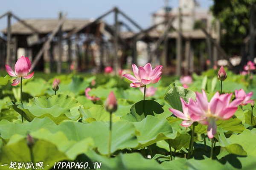
<svg viewBox="0 0 256 170"><path fill-rule="evenodd" d="M43 162L42 168L44 168L44 170L51 169L55 162L68 159L67 156L59 151L54 144L42 140L35 141L35 144L32 147L32 152L34 156L34 167L36 168L35 163ZM1 147L0 164L8 164L7 166L1 166L1 170L9 170L11 162L24 162L25 165L27 162L31 162L30 151L26 144L26 139L22 139L15 144ZM16 163L16 166L18 166L18 163ZM18 169L18 167L16 168ZM24 165L23 169L25 169Z"/></svg>

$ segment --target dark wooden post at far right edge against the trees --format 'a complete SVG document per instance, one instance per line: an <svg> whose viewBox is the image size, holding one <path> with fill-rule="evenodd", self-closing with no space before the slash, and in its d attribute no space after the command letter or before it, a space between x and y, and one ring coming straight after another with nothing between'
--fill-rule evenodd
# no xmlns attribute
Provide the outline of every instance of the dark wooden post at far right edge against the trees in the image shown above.
<svg viewBox="0 0 256 170"><path fill-rule="evenodd" d="M253 62L254 59L254 40L255 40L255 32L254 32L254 22L255 22L255 7L254 3L251 3L250 9L250 61Z"/></svg>

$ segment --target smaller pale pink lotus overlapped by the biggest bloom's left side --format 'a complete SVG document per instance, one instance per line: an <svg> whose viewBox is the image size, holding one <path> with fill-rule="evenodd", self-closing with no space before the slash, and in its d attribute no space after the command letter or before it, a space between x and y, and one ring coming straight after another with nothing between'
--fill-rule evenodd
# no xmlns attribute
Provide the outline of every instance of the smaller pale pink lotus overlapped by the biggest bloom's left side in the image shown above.
<svg viewBox="0 0 256 170"><path fill-rule="evenodd" d="M201 122L205 119L205 117L201 117L201 116L197 116L194 113L192 113L189 108L188 105L191 105L192 103L192 98L189 98L189 102L186 103L184 101L184 99L182 99L180 97L180 101L182 104L182 110L183 113L179 110L173 109L173 108L169 108L169 110L178 118L183 119L182 123L180 124L183 127L189 127L191 126L194 122Z"/></svg>

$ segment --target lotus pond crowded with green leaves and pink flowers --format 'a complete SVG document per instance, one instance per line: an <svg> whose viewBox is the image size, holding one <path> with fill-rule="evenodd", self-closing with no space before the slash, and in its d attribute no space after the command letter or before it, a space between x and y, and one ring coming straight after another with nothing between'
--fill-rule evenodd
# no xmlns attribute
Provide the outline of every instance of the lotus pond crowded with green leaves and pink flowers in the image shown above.
<svg viewBox="0 0 256 170"><path fill-rule="evenodd" d="M23 79L22 103L21 83L13 86L12 77L0 77L0 169L9 169L11 163L25 169L33 163L44 169L253 170L256 107L238 101L235 92L253 92L249 98L256 99L256 76L227 69L226 74L219 96L218 70L211 69L193 74L186 87L180 77L162 77L146 86L143 100L143 87L130 87L125 77L35 72L31 79ZM112 114L105 106L111 91L117 102L116 111L108 109ZM214 119L199 113L204 102L209 102L211 112L219 112ZM192 114L186 117L193 103L198 107L194 116L201 114L197 121ZM230 115L225 117L226 113ZM180 119L179 114L185 117Z"/></svg>

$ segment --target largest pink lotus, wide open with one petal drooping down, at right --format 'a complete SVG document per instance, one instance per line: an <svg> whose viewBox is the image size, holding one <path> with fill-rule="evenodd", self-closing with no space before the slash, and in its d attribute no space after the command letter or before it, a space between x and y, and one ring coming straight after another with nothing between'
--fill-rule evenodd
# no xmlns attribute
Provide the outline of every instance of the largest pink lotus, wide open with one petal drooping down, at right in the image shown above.
<svg viewBox="0 0 256 170"><path fill-rule="evenodd" d="M235 99L230 103L232 94L221 94L218 91L214 94L210 102L207 95L202 90L202 94L196 93L196 102L191 100L191 104L187 105L190 111L196 116L206 117L206 121L199 121L202 125L208 125L207 135L212 139L216 133L218 119L230 119L237 110L242 99Z"/></svg>

